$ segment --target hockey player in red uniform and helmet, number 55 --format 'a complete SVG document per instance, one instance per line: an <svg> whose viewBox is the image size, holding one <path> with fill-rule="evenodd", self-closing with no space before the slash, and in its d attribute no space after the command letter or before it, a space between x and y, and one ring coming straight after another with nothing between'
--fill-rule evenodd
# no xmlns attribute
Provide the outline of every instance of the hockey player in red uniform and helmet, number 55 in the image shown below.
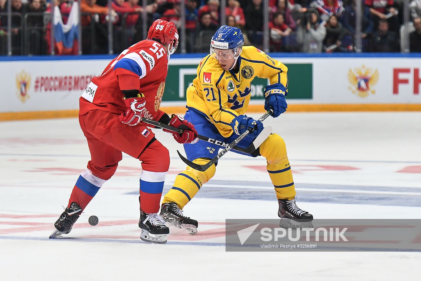
<svg viewBox="0 0 421 281"><path fill-rule="evenodd" d="M79 176L69 204L54 224L50 236L67 234L100 187L115 173L122 151L139 159L141 239L165 243L168 227L157 214L170 157L154 133L141 122L153 119L183 129L172 133L179 143L194 143L194 126L177 115L161 111L168 59L178 46L172 22L156 20L148 39L124 50L99 77L94 77L80 97L79 123L88 140L91 160Z"/></svg>

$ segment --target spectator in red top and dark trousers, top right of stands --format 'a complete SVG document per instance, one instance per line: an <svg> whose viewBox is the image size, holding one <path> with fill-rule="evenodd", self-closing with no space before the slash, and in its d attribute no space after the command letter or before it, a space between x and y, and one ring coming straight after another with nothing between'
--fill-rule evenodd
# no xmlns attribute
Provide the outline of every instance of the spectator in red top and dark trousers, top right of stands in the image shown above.
<svg viewBox="0 0 421 281"><path fill-rule="evenodd" d="M397 10L393 7L394 0L364 0L365 5L370 8L371 14L373 14L374 25L379 26L381 19L387 19L390 30L399 33L399 19L396 16ZM390 17L386 14L390 14Z"/></svg>

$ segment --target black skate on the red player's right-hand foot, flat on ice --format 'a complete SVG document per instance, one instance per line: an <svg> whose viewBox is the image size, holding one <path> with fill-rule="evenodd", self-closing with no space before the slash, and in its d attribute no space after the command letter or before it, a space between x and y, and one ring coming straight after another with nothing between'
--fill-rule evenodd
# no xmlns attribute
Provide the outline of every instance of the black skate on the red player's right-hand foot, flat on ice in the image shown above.
<svg viewBox="0 0 421 281"><path fill-rule="evenodd" d="M167 234L170 233L170 229L164 223L157 213L145 213L140 210L139 227L142 229L140 239L150 243L167 243Z"/></svg>

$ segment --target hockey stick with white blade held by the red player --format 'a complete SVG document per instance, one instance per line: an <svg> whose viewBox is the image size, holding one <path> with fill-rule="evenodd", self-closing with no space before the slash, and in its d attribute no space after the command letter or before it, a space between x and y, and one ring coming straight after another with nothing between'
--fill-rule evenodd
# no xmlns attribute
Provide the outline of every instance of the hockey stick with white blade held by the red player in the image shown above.
<svg viewBox="0 0 421 281"><path fill-rule="evenodd" d="M165 123L161 123L161 122L157 122L157 121L154 121L154 120L150 120L150 119L142 119L142 122L145 122L147 124L154 125L156 127L160 127L160 128L166 129L166 130L171 131L171 132L177 132L179 134L181 134L183 132L182 129L179 129L179 128L170 126L170 125L165 124ZM266 138L271 133L272 133L272 127L267 126L267 127L265 127L263 129L263 131L261 131L261 133L253 141L253 143L251 143L250 146L248 146L247 148L242 148L242 147L239 147L239 146L234 146L232 149L235 150L235 151L239 151L239 152L243 152L243 153L247 153L247 154L252 154L266 140ZM208 138L208 137L205 137L203 135L197 135L197 137L200 140L204 140L204 141L206 141L208 143L216 144L216 145L221 146L223 148L226 148L226 147L229 146L229 143L224 143L223 141L216 140L216 139L213 139L213 138Z"/></svg>

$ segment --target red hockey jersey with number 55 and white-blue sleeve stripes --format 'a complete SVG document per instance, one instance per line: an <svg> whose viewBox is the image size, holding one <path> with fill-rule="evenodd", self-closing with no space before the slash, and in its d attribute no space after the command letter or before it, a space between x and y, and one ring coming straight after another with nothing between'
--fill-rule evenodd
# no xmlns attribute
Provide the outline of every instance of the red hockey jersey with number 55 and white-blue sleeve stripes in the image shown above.
<svg viewBox="0 0 421 281"><path fill-rule="evenodd" d="M92 79L79 99L79 115L95 109L124 113L126 106L121 90L139 89L149 111L145 117L158 120L163 115L159 107L167 72L168 54L163 45L152 40L140 41L113 59L101 76ZM139 83L133 76L139 78Z"/></svg>

